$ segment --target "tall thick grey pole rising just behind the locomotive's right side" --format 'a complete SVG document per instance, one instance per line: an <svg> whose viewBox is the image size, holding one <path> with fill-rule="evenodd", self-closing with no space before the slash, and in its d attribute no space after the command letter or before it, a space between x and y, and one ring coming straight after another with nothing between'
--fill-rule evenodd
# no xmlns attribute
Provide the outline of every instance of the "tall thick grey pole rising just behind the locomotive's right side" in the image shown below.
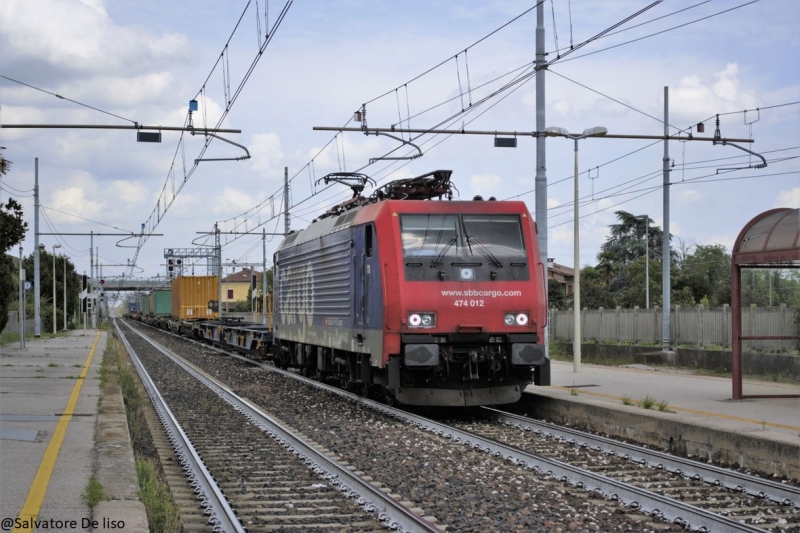
<svg viewBox="0 0 800 533"><path fill-rule="evenodd" d="M544 49L544 2L536 7L536 131L545 129L545 66ZM547 290L547 153L544 134L536 137L536 227L539 237L539 257L544 265L544 286ZM577 268L577 267L576 267ZM549 309L546 310L550 312ZM548 321L549 323L549 321ZM548 356L548 326L544 330L544 353Z"/></svg>

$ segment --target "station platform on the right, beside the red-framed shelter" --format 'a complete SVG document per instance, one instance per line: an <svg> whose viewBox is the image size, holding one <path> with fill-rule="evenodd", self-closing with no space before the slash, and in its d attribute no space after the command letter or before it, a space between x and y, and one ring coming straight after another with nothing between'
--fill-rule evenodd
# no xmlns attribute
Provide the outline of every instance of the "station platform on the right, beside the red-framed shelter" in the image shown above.
<svg viewBox="0 0 800 533"><path fill-rule="evenodd" d="M746 395L800 395L800 384L747 380ZM800 478L800 398L733 400L731 378L645 365L551 361L551 386L526 403L550 419L777 477ZM623 399L629 404L623 403ZM644 409L640 402L663 403Z"/></svg>

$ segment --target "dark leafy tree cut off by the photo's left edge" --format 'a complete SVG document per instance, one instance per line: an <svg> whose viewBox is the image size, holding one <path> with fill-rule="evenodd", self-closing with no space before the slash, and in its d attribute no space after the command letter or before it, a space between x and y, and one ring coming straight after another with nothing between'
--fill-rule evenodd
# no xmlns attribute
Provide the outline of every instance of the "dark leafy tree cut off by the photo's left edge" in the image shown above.
<svg viewBox="0 0 800 533"><path fill-rule="evenodd" d="M0 146L0 150L5 148ZM0 177L11 168L11 161L0 153ZM28 224L22 220L22 206L13 198L0 202L0 331L8 322L8 305L14 297L14 262L6 255L12 246L22 242Z"/></svg>

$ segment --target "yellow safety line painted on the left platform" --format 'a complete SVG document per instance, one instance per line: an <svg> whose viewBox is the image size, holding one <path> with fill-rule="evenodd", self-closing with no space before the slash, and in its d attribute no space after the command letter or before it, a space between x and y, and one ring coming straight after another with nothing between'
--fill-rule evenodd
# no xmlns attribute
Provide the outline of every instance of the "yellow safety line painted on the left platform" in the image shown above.
<svg viewBox="0 0 800 533"><path fill-rule="evenodd" d="M53 469L56 466L56 459L58 459L58 452L61 451L61 445L64 443L64 436L67 434L67 426L72 420L72 414L75 412L75 406L78 403L78 397L81 394L83 382L86 379L86 374L89 372L89 365L92 364L95 349L97 349L97 342L100 340L102 332L97 333L94 339L92 349L89 350L89 357L86 358L86 363L83 365L81 375L77 379L75 386L72 388L72 394L67 402L67 407L64 413L58 420L53 438L50 439L50 444L47 445L47 450L44 452L42 462L39 464L39 470L36 472L36 477L33 478L33 483L28 491L28 497L25 498L25 504L22 506L22 511L15 521L14 531L30 532L33 531L33 522L38 518L42 510L45 494L47 494L47 486L50 484L50 478L53 475ZM16 527L17 524L24 527Z"/></svg>

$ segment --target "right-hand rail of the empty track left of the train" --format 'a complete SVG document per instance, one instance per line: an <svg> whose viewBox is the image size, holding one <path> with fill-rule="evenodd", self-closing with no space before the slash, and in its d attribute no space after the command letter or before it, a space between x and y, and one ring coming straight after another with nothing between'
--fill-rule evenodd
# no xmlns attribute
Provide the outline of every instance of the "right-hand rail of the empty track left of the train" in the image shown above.
<svg viewBox="0 0 800 533"><path fill-rule="evenodd" d="M325 456L322 452L296 436L260 408L242 398L223 383L209 376L177 354L162 346L141 332L134 333L149 342L154 348L166 355L170 360L183 368L192 377L220 396L234 409L242 413L253 425L264 431L284 448L292 452L317 475L329 481L346 497L354 500L365 511L377 515L378 520L393 531L441 533L441 529L420 517L394 498L384 493L370 482L355 475L347 467ZM208 348L208 345L203 345ZM225 352L230 355L229 352ZM252 359L243 358L249 362ZM272 370L272 368L270 368Z"/></svg>

